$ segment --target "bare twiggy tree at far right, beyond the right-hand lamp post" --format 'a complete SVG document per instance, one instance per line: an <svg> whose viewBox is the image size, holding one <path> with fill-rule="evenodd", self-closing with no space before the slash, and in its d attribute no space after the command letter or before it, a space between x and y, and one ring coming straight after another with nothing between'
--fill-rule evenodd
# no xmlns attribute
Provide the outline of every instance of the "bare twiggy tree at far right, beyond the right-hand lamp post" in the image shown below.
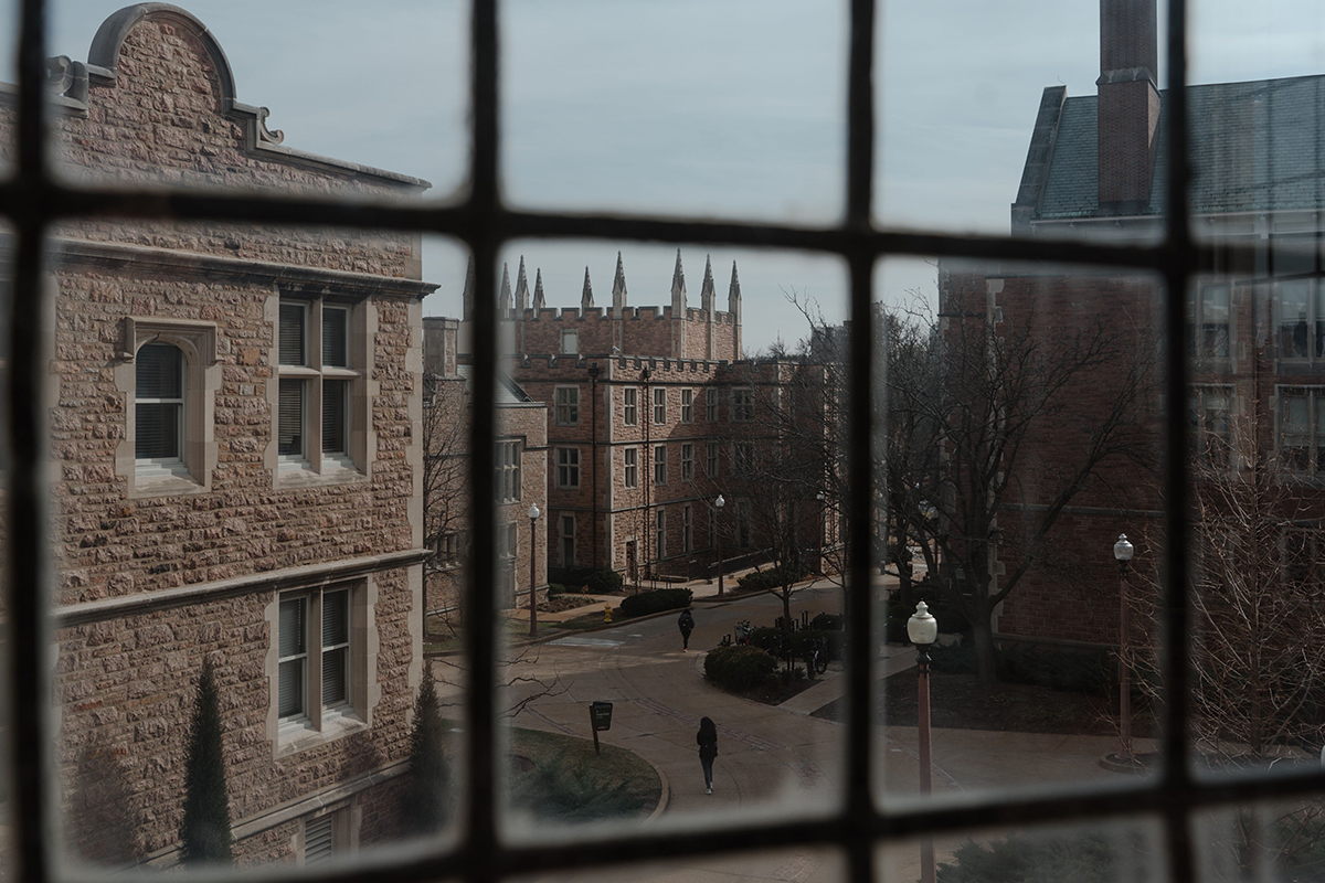
<svg viewBox="0 0 1325 883"><path fill-rule="evenodd" d="M1301 451L1261 443L1272 426L1263 397L1195 393L1191 547L1191 735L1212 763L1273 764L1325 743L1325 531L1304 499L1289 461ZM1158 665L1159 586L1133 597L1142 639L1130 663ZM1159 683L1141 679L1158 704ZM1317 831L1320 834L1320 831Z"/></svg>

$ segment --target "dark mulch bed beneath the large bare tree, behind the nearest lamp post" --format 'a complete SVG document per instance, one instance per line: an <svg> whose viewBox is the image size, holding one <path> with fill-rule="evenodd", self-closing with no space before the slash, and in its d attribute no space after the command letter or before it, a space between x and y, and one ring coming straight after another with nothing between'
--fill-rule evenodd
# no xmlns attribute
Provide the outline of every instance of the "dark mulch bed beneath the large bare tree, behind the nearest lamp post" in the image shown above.
<svg viewBox="0 0 1325 883"><path fill-rule="evenodd" d="M910 669L876 684L876 724L914 727L917 723L917 671ZM1134 703L1136 704L1136 703ZM814 712L825 720L841 720L845 702L839 699ZM1134 708L1133 735L1157 736L1145 708ZM1117 698L1019 683L986 686L975 675L930 675L930 723L949 729L1006 729L1071 736L1117 735Z"/></svg>

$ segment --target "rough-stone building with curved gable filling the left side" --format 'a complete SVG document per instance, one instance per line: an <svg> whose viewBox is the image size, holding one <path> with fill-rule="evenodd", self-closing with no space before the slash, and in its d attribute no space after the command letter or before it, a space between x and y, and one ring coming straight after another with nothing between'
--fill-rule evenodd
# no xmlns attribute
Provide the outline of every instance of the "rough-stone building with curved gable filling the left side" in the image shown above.
<svg viewBox="0 0 1325 883"><path fill-rule="evenodd" d="M167 4L117 12L87 62L50 70L53 139L81 180L428 187L282 144L211 32ZM69 851L176 859L205 658L241 863L392 838L428 555L420 302L436 286L417 237L70 220L49 275Z"/></svg>

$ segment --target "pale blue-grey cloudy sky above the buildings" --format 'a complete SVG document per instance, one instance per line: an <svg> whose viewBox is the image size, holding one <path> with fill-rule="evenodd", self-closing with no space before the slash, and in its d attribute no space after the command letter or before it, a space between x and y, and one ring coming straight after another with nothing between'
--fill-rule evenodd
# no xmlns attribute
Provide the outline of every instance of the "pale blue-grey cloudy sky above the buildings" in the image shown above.
<svg viewBox="0 0 1325 883"><path fill-rule="evenodd" d="M50 54L86 60L123 3L52 4ZM416 175L444 197L465 175L468 15L456 0L192 0L290 147ZM1325 4L1192 7L1192 82L1325 73ZM367 11L367 12L366 12ZM1161 8L1161 19L1163 9ZM1006 233L1045 86L1094 91L1096 0L885 0L876 75L882 222ZM12 23L7 23L12 33ZM7 34L0 34L7 36ZM832 222L843 208L845 5L828 0L507 0L502 4L506 196L535 208ZM12 45L11 38L4 45ZM12 64L11 64L12 69ZM698 304L705 250L685 246ZM588 266L611 302L617 250L629 303L669 302L676 245L521 242L551 306L578 306ZM719 304L739 265L749 349L804 320L783 291L844 312L832 258L713 252ZM457 315L464 253L429 241L425 312ZM882 267L878 294L930 295L933 266Z"/></svg>

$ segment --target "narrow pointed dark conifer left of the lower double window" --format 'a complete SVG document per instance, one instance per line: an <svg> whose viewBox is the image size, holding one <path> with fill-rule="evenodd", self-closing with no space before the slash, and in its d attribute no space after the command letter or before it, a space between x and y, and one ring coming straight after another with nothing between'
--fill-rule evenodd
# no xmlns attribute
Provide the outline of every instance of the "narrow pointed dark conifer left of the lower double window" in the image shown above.
<svg viewBox="0 0 1325 883"><path fill-rule="evenodd" d="M184 760L184 821L179 829L186 864L235 860L231 851L231 797L225 786L221 708L212 661L203 661Z"/></svg>

